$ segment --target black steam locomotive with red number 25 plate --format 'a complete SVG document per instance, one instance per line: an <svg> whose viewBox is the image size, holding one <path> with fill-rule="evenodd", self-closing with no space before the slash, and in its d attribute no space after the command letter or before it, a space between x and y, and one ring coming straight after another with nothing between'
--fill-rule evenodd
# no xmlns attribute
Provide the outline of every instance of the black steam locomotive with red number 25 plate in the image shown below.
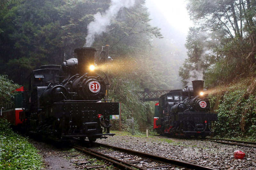
<svg viewBox="0 0 256 170"><path fill-rule="evenodd" d="M201 136L211 134L217 113L210 113L211 100L205 94L204 81L192 81L184 89L171 90L159 99L154 129L160 135ZM158 115L157 115L158 114Z"/></svg>

